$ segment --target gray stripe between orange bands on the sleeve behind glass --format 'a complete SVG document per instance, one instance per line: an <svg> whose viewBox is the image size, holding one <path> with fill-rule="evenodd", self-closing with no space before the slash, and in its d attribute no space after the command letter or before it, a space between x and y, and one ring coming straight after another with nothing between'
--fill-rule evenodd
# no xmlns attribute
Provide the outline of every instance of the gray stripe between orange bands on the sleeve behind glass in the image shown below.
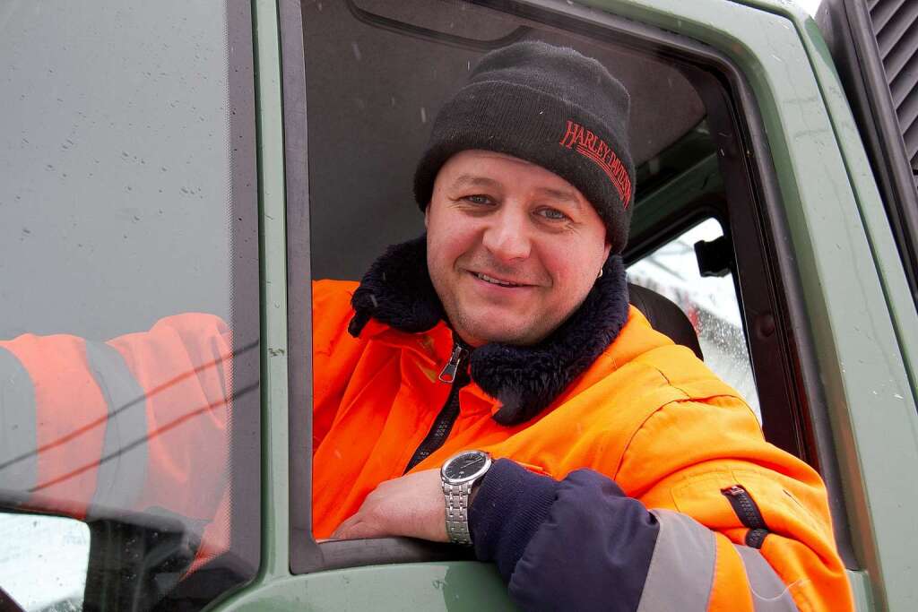
<svg viewBox="0 0 918 612"><path fill-rule="evenodd" d="M86 340L86 362L108 408L96 474L95 506L132 508L147 479L147 401L121 354L104 342Z"/></svg>

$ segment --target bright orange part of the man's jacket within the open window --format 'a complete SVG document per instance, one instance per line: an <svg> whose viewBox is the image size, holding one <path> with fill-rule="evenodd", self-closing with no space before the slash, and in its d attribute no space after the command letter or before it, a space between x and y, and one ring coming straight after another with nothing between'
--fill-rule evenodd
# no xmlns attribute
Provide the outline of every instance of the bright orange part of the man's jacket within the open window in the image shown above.
<svg viewBox="0 0 918 612"><path fill-rule="evenodd" d="M319 538L353 515L376 484L402 475L450 391L439 379L453 351L450 329L440 323L405 333L371 319L353 338L347 328L356 288L332 281L313 288ZM761 609L750 585L768 593L777 573L801 610L851 609L819 475L767 443L743 399L635 308L610 347L537 417L499 425L492 417L497 400L474 382L459 392L459 405L442 447L412 471L437 468L465 449L555 479L592 468L661 523L660 569L648 574L654 584L645 592L689 593L692 585L682 581L706 580L708 609ZM753 529L733 509L730 491L744 492L758 507L768 530L761 548L744 545ZM699 542L704 550L692 550ZM706 563L713 576L700 571Z"/></svg>

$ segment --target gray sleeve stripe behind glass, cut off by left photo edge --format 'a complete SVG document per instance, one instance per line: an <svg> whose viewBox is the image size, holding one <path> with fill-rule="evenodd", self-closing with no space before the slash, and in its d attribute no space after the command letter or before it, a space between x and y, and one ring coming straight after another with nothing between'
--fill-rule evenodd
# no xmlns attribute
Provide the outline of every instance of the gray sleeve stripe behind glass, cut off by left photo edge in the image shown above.
<svg viewBox="0 0 918 612"><path fill-rule="evenodd" d="M0 347L0 489L28 491L38 480L36 410L31 376Z"/></svg>

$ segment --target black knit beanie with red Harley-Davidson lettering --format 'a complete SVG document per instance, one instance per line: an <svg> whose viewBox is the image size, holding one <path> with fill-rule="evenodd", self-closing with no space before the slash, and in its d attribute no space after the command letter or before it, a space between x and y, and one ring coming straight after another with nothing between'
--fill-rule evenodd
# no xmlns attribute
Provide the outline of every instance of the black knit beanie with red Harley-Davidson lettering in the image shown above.
<svg viewBox="0 0 918 612"><path fill-rule="evenodd" d="M421 210L440 168L461 150L532 161L577 187L606 224L612 253L628 241L634 164L630 98L592 58L541 41L491 51L433 123L414 175Z"/></svg>

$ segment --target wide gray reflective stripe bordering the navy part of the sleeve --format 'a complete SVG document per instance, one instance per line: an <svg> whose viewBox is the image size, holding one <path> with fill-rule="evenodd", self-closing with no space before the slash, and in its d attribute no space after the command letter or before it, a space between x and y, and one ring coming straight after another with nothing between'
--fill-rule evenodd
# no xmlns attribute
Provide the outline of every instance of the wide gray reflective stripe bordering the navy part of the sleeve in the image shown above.
<svg viewBox="0 0 918 612"><path fill-rule="evenodd" d="M669 510L651 510L660 523L638 612L704 612L711 599L717 544L711 529Z"/></svg>

